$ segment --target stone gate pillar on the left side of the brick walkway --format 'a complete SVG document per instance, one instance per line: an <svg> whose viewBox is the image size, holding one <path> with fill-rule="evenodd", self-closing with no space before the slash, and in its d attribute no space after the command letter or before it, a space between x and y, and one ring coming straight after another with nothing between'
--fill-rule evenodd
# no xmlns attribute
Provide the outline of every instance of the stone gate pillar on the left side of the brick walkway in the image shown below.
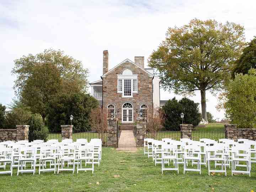
<svg viewBox="0 0 256 192"><path fill-rule="evenodd" d="M117 118L108 118L107 146L117 148Z"/></svg>

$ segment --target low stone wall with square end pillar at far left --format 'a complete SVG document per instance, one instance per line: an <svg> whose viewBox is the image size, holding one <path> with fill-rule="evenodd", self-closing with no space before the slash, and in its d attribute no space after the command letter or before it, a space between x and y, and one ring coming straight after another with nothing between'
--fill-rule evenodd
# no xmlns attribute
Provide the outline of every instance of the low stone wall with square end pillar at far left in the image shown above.
<svg viewBox="0 0 256 192"><path fill-rule="evenodd" d="M0 129L0 142L28 140L28 125L17 125L16 129Z"/></svg>

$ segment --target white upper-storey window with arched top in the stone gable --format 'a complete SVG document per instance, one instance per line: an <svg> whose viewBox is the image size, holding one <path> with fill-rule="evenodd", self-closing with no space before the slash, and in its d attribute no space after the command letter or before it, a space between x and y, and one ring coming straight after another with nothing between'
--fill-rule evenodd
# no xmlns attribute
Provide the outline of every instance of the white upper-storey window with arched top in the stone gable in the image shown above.
<svg viewBox="0 0 256 192"><path fill-rule="evenodd" d="M138 92L138 75L133 75L129 69L117 75L117 92L122 93L123 97L133 97L133 93Z"/></svg>

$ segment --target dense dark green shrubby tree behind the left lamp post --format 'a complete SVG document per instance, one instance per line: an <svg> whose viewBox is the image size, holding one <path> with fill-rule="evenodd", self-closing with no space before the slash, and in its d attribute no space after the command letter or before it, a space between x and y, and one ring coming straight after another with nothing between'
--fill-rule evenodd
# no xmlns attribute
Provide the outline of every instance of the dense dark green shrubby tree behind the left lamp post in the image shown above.
<svg viewBox="0 0 256 192"><path fill-rule="evenodd" d="M47 108L47 124L49 130L58 132L60 125L70 124L72 114L74 130L90 130L90 112L98 106L98 101L84 92L66 93L54 97Z"/></svg>

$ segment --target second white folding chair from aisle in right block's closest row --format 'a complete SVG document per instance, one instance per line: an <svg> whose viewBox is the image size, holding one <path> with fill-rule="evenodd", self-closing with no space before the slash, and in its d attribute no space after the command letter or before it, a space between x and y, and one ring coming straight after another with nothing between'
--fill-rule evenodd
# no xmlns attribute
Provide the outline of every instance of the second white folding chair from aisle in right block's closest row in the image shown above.
<svg viewBox="0 0 256 192"><path fill-rule="evenodd" d="M201 175L201 147L197 145L185 145L184 150L183 174L185 174L185 171L198 171ZM197 161L197 169L187 168L188 160Z"/></svg>

